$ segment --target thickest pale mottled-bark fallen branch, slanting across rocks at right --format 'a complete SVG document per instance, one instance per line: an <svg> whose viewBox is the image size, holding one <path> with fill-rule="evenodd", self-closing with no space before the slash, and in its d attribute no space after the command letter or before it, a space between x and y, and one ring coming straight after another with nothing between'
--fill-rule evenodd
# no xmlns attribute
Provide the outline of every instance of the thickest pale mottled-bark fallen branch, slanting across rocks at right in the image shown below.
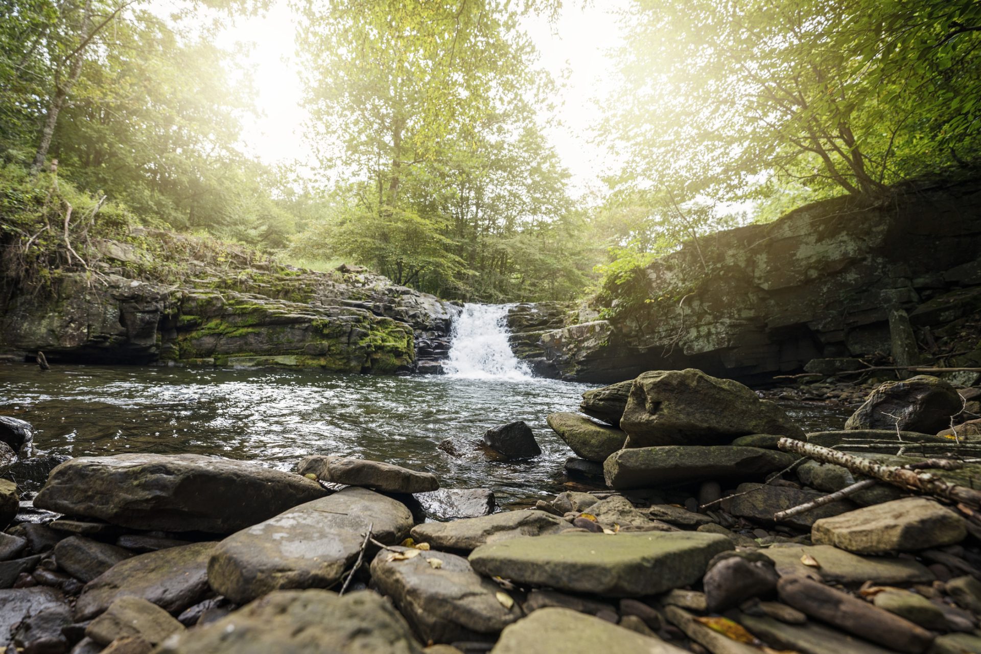
<svg viewBox="0 0 981 654"><path fill-rule="evenodd" d="M981 491L960 486L930 473L917 473L909 468L886 466L870 459L862 459L846 452L839 452L814 443L807 443L794 438L781 438L777 447L785 452L793 452L822 463L842 466L865 477L871 477L900 486L906 490L915 490L928 495L942 497L954 502L963 502L970 507L981 507ZM932 468L946 468L950 464L939 464L939 460L917 462L918 467L930 464ZM950 468L947 468L950 470Z"/></svg>

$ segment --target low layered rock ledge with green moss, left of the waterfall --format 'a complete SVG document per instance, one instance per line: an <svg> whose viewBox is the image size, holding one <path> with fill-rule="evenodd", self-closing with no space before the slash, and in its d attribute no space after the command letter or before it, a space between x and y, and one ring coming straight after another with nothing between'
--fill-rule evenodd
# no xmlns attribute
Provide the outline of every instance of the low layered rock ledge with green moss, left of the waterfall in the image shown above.
<svg viewBox="0 0 981 654"><path fill-rule="evenodd" d="M458 309L359 268L322 274L258 264L197 266L180 283L132 278L106 247L98 277L19 293L0 316L0 356L52 363L175 362L336 372L432 371ZM131 262L130 262L131 263Z"/></svg>

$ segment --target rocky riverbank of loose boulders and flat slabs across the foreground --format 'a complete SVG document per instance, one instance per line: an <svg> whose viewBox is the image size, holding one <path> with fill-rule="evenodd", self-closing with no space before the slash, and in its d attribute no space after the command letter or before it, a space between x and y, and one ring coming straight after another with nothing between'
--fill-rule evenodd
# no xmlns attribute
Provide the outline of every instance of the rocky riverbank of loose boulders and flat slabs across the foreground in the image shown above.
<svg viewBox="0 0 981 654"><path fill-rule="evenodd" d="M499 513L487 489L343 456L294 473L71 459L32 499L0 481L0 640L78 654L981 652L978 390L888 382L845 430L805 434L737 382L645 373L586 392L589 418L549 416L594 490ZM29 457L23 422L5 419L0 440ZM538 448L521 423L483 442L531 463Z"/></svg>

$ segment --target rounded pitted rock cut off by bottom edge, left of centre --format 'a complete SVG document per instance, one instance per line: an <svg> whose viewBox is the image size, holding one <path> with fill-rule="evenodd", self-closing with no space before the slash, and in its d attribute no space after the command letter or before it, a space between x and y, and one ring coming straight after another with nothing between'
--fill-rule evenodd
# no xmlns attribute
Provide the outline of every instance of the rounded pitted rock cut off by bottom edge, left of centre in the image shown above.
<svg viewBox="0 0 981 654"><path fill-rule="evenodd" d="M277 590L218 622L180 633L157 654L422 654L405 620L370 591Z"/></svg>

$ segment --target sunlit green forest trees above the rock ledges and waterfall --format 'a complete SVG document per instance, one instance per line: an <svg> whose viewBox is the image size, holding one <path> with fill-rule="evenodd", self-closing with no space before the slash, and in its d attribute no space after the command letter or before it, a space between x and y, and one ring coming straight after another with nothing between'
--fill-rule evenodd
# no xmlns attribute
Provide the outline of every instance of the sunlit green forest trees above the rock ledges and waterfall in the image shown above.
<svg viewBox="0 0 981 654"><path fill-rule="evenodd" d="M6 275L87 268L83 243L148 226L446 299L569 300L721 228L977 168L981 3L630 0L592 99L614 165L577 192L526 26L591 4L8 0ZM215 35L269 12L296 20L312 172L243 146L262 108Z"/></svg>

